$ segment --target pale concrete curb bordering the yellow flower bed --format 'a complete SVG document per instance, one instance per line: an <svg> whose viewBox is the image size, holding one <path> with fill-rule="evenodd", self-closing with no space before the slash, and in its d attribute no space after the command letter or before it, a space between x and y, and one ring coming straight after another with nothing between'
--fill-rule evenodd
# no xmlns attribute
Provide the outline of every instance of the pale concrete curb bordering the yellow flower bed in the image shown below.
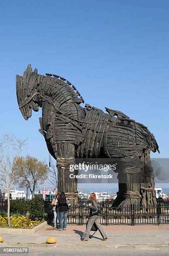
<svg viewBox="0 0 169 256"><path fill-rule="evenodd" d="M40 225L36 226L32 229L27 228L0 228L1 234L34 234L37 230L47 225L47 221L41 223Z"/></svg>

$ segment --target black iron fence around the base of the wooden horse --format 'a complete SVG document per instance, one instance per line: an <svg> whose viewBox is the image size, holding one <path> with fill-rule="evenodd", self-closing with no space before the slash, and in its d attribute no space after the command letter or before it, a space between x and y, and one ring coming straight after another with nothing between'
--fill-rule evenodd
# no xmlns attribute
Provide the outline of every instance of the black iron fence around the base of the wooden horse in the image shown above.
<svg viewBox="0 0 169 256"><path fill-rule="evenodd" d="M30 200L27 201L27 209L29 208ZM43 201L45 206L45 212L47 213L48 223L53 222L53 211L51 201ZM67 224L72 225L86 225L89 218L88 200L83 202L80 200L78 205L72 206L68 211ZM163 200L158 202L157 207L112 207L112 201L99 202L99 208L101 214L99 215L99 221L103 225L115 225L115 224L169 224L169 200ZM7 201L0 202L0 212L7 211Z"/></svg>

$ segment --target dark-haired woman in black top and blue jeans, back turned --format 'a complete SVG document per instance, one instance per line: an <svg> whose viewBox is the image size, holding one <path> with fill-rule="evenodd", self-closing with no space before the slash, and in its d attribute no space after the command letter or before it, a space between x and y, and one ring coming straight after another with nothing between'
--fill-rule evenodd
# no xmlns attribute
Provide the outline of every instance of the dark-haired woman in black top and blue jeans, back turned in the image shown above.
<svg viewBox="0 0 169 256"><path fill-rule="evenodd" d="M58 200L58 209L59 209L59 230L66 230L67 226L67 200L64 192L61 192L60 198Z"/></svg>

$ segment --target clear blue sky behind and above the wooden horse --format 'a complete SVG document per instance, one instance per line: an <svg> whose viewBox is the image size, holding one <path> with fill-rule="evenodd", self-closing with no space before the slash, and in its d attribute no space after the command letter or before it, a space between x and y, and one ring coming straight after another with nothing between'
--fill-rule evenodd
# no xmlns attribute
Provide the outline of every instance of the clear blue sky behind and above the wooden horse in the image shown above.
<svg viewBox="0 0 169 256"><path fill-rule="evenodd" d="M169 157L169 1L2 1L0 134L29 137L27 153L48 159L41 110L25 121L15 75L27 64L76 85L85 103L121 110L147 125Z"/></svg>

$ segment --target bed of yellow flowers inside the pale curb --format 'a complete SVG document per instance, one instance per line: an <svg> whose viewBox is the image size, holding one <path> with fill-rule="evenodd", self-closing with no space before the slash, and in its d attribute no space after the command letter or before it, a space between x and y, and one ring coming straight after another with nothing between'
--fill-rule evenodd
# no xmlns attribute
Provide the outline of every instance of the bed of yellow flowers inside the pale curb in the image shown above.
<svg viewBox="0 0 169 256"><path fill-rule="evenodd" d="M11 228L34 228L45 220L31 220L29 217L10 217ZM7 227L7 217L0 215L0 227Z"/></svg>

